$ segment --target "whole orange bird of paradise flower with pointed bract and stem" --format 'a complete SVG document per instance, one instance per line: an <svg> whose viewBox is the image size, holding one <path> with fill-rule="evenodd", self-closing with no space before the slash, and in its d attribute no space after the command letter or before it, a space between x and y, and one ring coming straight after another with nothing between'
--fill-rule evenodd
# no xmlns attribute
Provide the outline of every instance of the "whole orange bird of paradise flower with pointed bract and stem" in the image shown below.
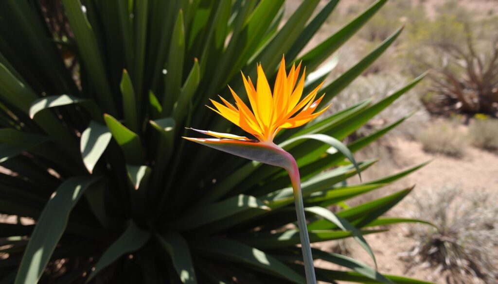
<svg viewBox="0 0 498 284"><path fill-rule="evenodd" d="M281 129L304 125L322 114L330 106L329 104L323 109L316 111L318 104L324 97L324 95L321 95L317 98L317 93L323 83L301 99L304 90L306 68L304 68L303 74L299 82L297 82L300 69L301 63L297 67L292 65L289 74L287 74L285 70L285 58L282 57L273 92L271 92L260 64L257 65L256 88L254 88L250 78L246 78L242 74L251 108L230 87L230 91L235 99L235 105L221 96L220 99L223 104L216 100L211 100L214 107L208 106L209 108L241 127L255 139L230 133L219 133L193 128L191 129L216 138L183 138L243 158L282 167L288 172L294 192L306 279L308 283L316 283L304 215L299 169L294 157L273 142L276 134ZM354 158L350 157L350 155L347 156L350 160L353 159L352 161L356 166Z"/></svg>

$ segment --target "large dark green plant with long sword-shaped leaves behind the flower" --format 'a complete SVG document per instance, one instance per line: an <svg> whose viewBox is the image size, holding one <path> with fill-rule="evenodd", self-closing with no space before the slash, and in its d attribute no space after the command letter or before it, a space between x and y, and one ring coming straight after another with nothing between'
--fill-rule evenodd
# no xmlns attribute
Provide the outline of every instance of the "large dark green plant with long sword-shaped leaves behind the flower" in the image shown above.
<svg viewBox="0 0 498 284"><path fill-rule="evenodd" d="M0 213L19 220L0 224L1 283L304 283L285 171L181 136L191 126L239 134L204 106L209 98L228 94L227 84L244 94L239 72L255 78L256 63L273 78L282 54L317 70L385 0L302 54L338 1L314 15L319 2L303 1L281 25L283 0L0 1ZM326 83L323 100L400 31ZM333 65L325 66L305 93L327 77ZM413 221L381 217L411 189L355 207L344 201L422 165L348 185L355 165L327 141L347 137L421 79L275 137L300 168L311 242L353 237L373 257L364 234ZM318 140L300 139L310 135ZM359 171L374 162L359 162ZM333 214L333 204L344 209ZM316 269L325 282L424 283L338 254L313 256L349 269Z"/></svg>

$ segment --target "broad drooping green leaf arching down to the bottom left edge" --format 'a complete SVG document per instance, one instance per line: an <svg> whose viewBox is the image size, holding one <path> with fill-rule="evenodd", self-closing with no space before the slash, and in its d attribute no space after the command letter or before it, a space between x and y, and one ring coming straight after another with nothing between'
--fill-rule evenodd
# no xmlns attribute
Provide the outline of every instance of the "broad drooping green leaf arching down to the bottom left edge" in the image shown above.
<svg viewBox="0 0 498 284"><path fill-rule="evenodd" d="M36 284L59 242L71 210L98 177L73 177L60 185L36 222L15 284Z"/></svg>

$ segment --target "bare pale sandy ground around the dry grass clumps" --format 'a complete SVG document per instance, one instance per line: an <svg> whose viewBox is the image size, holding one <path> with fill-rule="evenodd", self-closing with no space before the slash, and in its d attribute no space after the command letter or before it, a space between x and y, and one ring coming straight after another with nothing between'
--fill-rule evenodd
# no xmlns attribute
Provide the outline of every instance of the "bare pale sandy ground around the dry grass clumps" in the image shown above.
<svg viewBox="0 0 498 284"><path fill-rule="evenodd" d="M455 159L427 154L422 150L421 144L416 141L393 138L390 144L393 147L390 154L379 157L380 160L388 161L379 165L378 168L373 168L371 173L367 172L366 180L372 180L389 172L401 171L429 160L432 162L392 186L381 189L375 193L376 195L367 197L368 199L413 185L416 187L412 194L431 194L448 185L457 186L463 190L498 192L498 155L495 153L468 147L462 159ZM362 199L362 202L365 201L367 200ZM387 212L387 215L406 216L406 208L408 207L411 207L411 204L410 199L407 198ZM381 273L402 275L438 284L472 283L460 275L438 272L433 267L410 267L407 262L403 261L401 255L415 244L414 240L408 236L408 225L393 225L388 232L368 235L365 238L373 248L378 271ZM348 253L349 256L373 265L370 257L358 244L349 240L347 242L348 249L351 249ZM318 246L331 250L337 246L337 242L324 242ZM318 262L317 265L323 266L324 263Z"/></svg>

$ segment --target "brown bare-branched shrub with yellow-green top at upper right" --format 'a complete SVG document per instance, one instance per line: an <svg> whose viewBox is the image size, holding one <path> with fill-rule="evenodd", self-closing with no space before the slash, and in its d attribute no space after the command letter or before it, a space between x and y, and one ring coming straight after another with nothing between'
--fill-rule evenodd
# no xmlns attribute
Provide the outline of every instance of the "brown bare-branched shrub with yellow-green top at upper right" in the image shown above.
<svg viewBox="0 0 498 284"><path fill-rule="evenodd" d="M407 71L428 69L431 81L424 103L434 114L498 111L498 17L477 17L448 1L433 20L408 26Z"/></svg>

